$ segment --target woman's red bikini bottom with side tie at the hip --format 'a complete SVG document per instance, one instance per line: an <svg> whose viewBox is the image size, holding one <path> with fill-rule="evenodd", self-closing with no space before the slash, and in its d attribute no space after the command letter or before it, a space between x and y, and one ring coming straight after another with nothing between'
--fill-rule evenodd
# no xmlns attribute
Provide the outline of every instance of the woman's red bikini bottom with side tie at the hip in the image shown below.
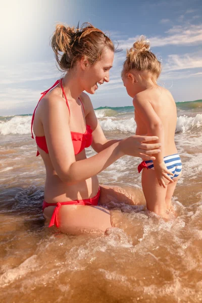
<svg viewBox="0 0 202 303"><path fill-rule="evenodd" d="M45 200L43 200L42 210L48 206L56 206L53 216L51 218L50 224L48 227L51 227L53 225L56 225L57 227L60 226L59 220L58 220L58 212L63 205L88 205L88 206L96 206L98 204L100 195L100 187L98 188L97 194L93 198L88 198L84 200L74 200L74 201L68 201L68 202L58 202L58 203L47 203Z"/></svg>

